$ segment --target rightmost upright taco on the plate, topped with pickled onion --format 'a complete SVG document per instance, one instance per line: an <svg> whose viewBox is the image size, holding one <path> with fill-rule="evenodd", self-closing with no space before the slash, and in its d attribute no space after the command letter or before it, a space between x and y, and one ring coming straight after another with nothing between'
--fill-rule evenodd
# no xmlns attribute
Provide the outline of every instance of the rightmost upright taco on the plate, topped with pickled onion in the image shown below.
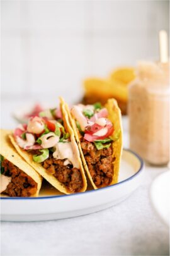
<svg viewBox="0 0 170 256"><path fill-rule="evenodd" d="M109 99L105 107L100 103L77 104L69 110L63 104L94 189L117 183L122 157L122 119L115 99Z"/></svg>

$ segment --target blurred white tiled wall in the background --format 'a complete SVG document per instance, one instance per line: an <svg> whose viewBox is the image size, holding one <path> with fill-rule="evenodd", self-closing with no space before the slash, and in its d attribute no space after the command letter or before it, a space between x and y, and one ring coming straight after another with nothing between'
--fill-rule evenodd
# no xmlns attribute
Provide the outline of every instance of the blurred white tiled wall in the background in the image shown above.
<svg viewBox="0 0 170 256"><path fill-rule="evenodd" d="M27 102L81 99L82 80L158 56L169 1L1 0L1 123Z"/></svg>

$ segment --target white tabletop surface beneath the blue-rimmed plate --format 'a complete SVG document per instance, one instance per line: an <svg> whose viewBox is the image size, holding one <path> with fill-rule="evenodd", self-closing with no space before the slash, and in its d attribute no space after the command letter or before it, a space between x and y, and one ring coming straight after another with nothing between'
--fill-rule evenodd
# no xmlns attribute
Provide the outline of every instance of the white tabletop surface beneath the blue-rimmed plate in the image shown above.
<svg viewBox="0 0 170 256"><path fill-rule="evenodd" d="M8 113L8 104L3 106ZM8 114L2 121L4 128L14 125ZM163 171L167 168L146 166L140 188L101 212L59 221L1 222L1 255L169 255L169 230L149 199L150 184Z"/></svg>

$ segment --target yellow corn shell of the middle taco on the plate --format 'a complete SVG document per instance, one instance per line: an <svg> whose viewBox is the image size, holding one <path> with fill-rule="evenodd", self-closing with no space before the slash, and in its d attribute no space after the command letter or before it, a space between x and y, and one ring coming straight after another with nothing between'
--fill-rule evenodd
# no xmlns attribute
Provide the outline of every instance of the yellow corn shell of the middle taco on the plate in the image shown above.
<svg viewBox="0 0 170 256"><path fill-rule="evenodd" d="M62 111L62 116L64 117L65 110L64 110L64 106L61 102L60 102L60 108ZM66 131L68 131L70 133L71 140L74 140L76 142L75 137L74 137L74 131L72 130L71 126L69 125L69 122L67 122L65 117L64 117L64 128ZM37 173L39 173L43 178L45 178L45 180L47 180L52 186L54 186L60 192L65 193L65 194L70 194L70 192L67 190L67 187L63 183L61 183L59 180L57 180L57 178L55 178L52 174L47 173L47 170L45 168L43 168L42 164L33 161L32 154L30 154L26 150L21 149L18 146L18 144L14 140L13 135L10 135L9 137L10 137L11 142L13 143L14 147L16 148L18 153L21 155L21 157L23 157L23 159L25 159L25 161L28 162L28 164L30 164L30 166L32 168L34 168L35 171L37 171ZM77 154L79 154L78 148L77 148ZM87 181L86 181L86 176L84 174L84 169L82 167L82 161L81 161L80 154L77 155L77 157L79 159L79 164L81 166L80 170L81 170L82 180L83 180L83 186L82 186L82 189L80 192L84 192L84 191L86 191L86 188L87 188Z"/></svg>

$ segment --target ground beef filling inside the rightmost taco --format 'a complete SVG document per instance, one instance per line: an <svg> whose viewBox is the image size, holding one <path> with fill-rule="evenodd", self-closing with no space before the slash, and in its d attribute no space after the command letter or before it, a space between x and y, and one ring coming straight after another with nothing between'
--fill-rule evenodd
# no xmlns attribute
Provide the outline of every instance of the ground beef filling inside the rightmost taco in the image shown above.
<svg viewBox="0 0 170 256"><path fill-rule="evenodd" d="M110 185L113 179L114 161L112 148L98 150L94 143L87 142L83 138L81 147L94 184L99 188Z"/></svg>

